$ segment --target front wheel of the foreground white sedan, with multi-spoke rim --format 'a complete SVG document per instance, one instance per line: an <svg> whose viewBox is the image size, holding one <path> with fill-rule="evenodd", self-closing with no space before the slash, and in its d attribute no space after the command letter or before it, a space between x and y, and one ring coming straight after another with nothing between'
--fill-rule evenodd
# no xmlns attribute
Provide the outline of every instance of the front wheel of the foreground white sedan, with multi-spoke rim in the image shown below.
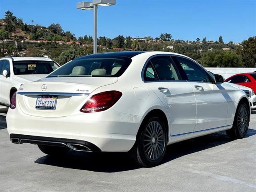
<svg viewBox="0 0 256 192"><path fill-rule="evenodd" d="M226 130L227 135L230 138L241 139L244 138L248 132L250 121L250 110L248 106L244 103L239 104L233 126L231 129Z"/></svg>

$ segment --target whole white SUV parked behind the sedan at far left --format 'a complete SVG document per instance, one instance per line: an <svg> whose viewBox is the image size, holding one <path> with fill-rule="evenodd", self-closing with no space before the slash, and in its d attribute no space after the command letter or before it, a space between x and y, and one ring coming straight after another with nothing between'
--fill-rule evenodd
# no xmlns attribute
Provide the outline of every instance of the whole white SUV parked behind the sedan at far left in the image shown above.
<svg viewBox="0 0 256 192"><path fill-rule="evenodd" d="M56 62L44 57L0 58L0 104L9 106L20 85L43 78L57 68Z"/></svg>

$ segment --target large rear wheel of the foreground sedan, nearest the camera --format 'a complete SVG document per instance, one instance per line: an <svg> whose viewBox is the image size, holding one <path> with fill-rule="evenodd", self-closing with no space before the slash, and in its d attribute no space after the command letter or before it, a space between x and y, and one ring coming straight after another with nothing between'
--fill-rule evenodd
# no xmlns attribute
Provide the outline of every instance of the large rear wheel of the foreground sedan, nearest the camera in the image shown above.
<svg viewBox="0 0 256 192"><path fill-rule="evenodd" d="M150 117L141 124L136 143L130 153L139 166L152 167L162 161L166 152L166 144L167 132L165 125L160 118Z"/></svg>

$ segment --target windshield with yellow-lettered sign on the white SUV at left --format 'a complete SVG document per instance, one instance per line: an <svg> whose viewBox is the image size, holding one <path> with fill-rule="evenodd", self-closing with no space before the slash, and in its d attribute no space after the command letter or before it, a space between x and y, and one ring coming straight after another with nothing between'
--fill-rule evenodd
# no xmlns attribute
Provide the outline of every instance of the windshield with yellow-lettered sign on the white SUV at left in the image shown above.
<svg viewBox="0 0 256 192"><path fill-rule="evenodd" d="M14 61L13 71L15 75L49 74L58 65L52 61Z"/></svg>

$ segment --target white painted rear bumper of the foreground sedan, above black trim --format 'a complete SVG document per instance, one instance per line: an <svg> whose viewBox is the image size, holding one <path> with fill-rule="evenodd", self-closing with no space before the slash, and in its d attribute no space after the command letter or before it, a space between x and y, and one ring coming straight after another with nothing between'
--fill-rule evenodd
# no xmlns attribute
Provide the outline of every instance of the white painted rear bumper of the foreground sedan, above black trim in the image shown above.
<svg viewBox="0 0 256 192"><path fill-rule="evenodd" d="M123 114L111 109L91 114L45 118L26 115L16 108L8 110L6 116L10 136L22 135L21 139L44 138L42 141L64 143L66 140L76 140L79 144L91 143L102 152L129 151L135 143L141 120L141 116ZM38 144L28 139L23 139L22 142Z"/></svg>

